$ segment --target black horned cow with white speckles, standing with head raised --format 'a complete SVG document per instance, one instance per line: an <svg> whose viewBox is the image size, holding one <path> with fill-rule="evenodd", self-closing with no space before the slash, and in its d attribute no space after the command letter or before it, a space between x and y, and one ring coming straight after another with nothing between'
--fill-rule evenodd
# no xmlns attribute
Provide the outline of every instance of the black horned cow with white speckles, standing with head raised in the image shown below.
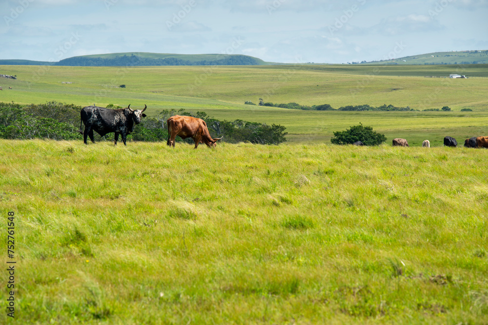
<svg viewBox="0 0 488 325"><path fill-rule="evenodd" d="M90 136L90 140L95 143L93 138L93 131L104 136L108 133L115 133L115 144L119 140L119 134L122 135L122 141L124 145L127 138L127 134L131 134L134 131L136 124L141 123L141 118L146 117L144 112L147 106L144 105L144 109L132 110L130 105L126 108L118 110L112 110L109 108L95 106L86 106L81 109L81 122L85 125L85 131L83 132L83 142L86 144L86 137ZM81 129L80 122L80 129ZM81 133L81 130L80 130Z"/></svg>

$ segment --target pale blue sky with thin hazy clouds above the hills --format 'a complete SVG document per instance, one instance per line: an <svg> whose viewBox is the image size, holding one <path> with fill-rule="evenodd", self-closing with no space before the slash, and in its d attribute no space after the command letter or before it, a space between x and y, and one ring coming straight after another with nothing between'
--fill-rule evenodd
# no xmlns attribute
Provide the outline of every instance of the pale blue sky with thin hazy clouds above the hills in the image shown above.
<svg viewBox="0 0 488 325"><path fill-rule="evenodd" d="M488 0L0 0L0 59L244 54L346 63L488 50Z"/></svg>

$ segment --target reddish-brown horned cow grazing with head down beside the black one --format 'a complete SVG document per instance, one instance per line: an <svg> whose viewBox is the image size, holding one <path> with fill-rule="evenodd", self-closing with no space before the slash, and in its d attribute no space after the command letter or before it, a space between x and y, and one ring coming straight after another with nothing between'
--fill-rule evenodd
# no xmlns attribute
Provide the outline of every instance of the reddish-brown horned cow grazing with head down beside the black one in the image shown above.
<svg viewBox="0 0 488 325"><path fill-rule="evenodd" d="M192 116L180 116L175 115L168 118L166 121L168 124L168 146L175 147L175 138L179 135L182 139L192 138L195 141L195 149L197 149L199 143L204 143L207 147L215 148L217 140L212 139L208 132L207 124L201 118Z"/></svg>

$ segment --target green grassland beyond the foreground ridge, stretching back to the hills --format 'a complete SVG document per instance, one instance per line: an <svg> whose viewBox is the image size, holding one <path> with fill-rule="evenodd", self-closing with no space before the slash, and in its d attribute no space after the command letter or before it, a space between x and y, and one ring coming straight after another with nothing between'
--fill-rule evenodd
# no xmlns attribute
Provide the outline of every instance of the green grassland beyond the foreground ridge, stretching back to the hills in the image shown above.
<svg viewBox="0 0 488 325"><path fill-rule="evenodd" d="M0 101L20 104L56 100L80 106L148 105L149 115L163 109L204 111L218 119L243 119L284 125L291 142L328 142L334 131L359 122L411 145L444 136L459 142L488 133L487 65L465 66L209 66L209 67L51 67L2 66ZM459 73L468 79L426 78ZM72 82L66 84L62 82ZM126 88L116 88L125 84ZM9 90L8 87L12 87ZM317 112L244 105L259 98L302 105L393 104L453 112ZM473 112L459 112L470 108Z"/></svg>

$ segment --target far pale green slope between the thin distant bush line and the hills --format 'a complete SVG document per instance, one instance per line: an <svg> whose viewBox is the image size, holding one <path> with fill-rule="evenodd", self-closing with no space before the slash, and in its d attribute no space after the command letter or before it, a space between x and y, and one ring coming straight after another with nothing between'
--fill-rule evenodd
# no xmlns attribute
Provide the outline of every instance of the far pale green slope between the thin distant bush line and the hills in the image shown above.
<svg viewBox="0 0 488 325"><path fill-rule="evenodd" d="M80 106L249 109L244 101L330 104L334 108L369 104L413 109L449 106L488 111L488 65L466 66L166 66L55 67L1 66L1 101L20 104L57 100ZM472 78L426 78L458 73ZM71 82L69 84L62 82ZM126 88L118 88L124 84Z"/></svg>

